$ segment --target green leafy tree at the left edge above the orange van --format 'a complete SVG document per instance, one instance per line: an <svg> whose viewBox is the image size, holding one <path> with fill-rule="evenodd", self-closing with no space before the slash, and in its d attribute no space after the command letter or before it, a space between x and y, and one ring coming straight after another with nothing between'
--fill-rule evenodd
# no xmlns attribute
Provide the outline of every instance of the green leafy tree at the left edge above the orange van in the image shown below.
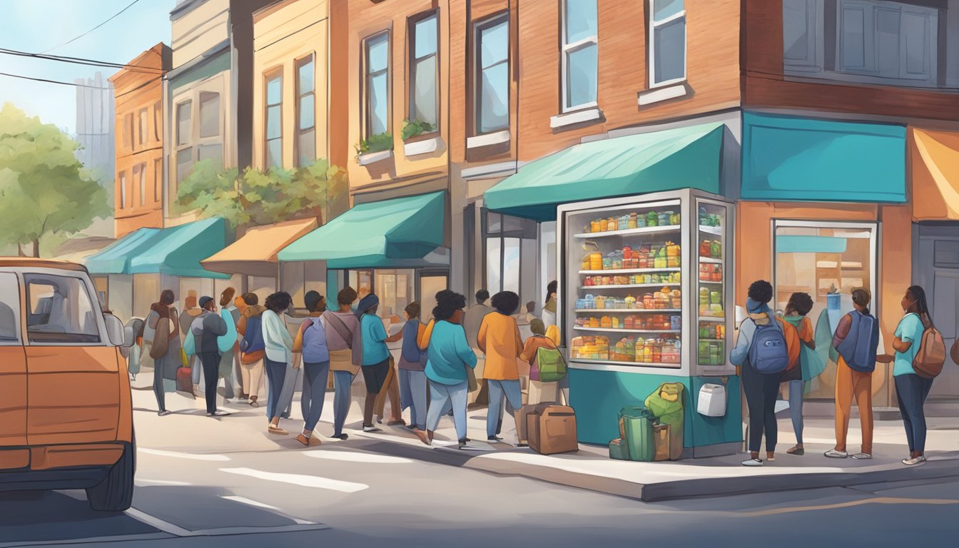
<svg viewBox="0 0 959 548"><path fill-rule="evenodd" d="M80 145L7 103L0 109L0 245L33 245L80 232L111 213L106 190L83 168Z"/></svg>

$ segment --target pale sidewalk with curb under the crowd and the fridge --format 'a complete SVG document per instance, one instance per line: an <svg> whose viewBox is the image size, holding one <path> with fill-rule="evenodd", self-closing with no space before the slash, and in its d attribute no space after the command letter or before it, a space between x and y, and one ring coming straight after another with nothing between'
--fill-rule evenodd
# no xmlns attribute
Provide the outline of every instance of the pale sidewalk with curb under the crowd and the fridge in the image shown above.
<svg viewBox="0 0 959 548"><path fill-rule="evenodd" d="M204 417L204 401L182 393L167 394L167 408L175 413L157 417L152 394L152 374L141 373L133 383L133 402L142 447L179 450L193 453L230 453L247 451L284 451L302 449L294 440L302 427L297 393L292 418L281 425L291 432L288 437L269 435L266 431L265 406L252 408L246 403L222 405L234 413L230 417ZM222 397L220 398L222 402ZM501 475L520 475L573 488L642 499L661 501L697 496L720 496L749 492L767 492L800 488L852 487L882 482L929 480L959 476L959 418L930 418L926 441L925 465L907 467L901 464L906 456L905 434L901 421L877 421L872 461L836 460L823 456L834 443L830 419L807 419L804 433L806 455L786 455L795 441L792 424L781 418L776 460L761 468L739 465L743 453L707 459L677 462L634 463L613 461L606 447L580 445L575 453L544 456L531 449L515 447L513 420L503 421L503 442L485 440L484 408L471 410L468 436L473 439L466 450L456 448L452 418L443 418L433 446L424 445L405 427L387 427L380 433L361 431L362 399L354 397L344 432L349 440L323 438L332 434L333 393L327 393L317 434L322 447L344 444L352 448L375 451L444 465L456 465ZM787 412L786 412L787 414ZM784 415L786 415L784 414ZM388 403L386 417L388 417ZM208 422L207 422L208 421ZM203 427L216 421L215 428ZM162 435L156 436L155 432ZM849 449L858 450L860 433L851 425ZM480 441L482 440L482 441ZM201 449L198 451L198 449Z"/></svg>

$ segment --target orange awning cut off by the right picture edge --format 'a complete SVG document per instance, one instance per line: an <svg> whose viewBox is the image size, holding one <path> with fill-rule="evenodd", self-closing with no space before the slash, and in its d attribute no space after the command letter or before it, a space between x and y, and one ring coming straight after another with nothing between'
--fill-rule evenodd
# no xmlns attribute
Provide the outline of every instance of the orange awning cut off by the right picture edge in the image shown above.
<svg viewBox="0 0 959 548"><path fill-rule="evenodd" d="M912 216L959 221L959 133L912 130Z"/></svg>

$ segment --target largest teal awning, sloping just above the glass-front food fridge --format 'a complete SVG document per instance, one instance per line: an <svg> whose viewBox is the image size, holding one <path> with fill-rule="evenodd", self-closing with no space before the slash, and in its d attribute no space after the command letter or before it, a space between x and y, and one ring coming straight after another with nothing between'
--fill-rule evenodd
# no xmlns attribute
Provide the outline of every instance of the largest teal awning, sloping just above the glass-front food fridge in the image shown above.
<svg viewBox="0 0 959 548"><path fill-rule="evenodd" d="M508 215L555 221L560 203L678 188L718 193L723 131L702 124L574 145L529 162L483 201Z"/></svg>

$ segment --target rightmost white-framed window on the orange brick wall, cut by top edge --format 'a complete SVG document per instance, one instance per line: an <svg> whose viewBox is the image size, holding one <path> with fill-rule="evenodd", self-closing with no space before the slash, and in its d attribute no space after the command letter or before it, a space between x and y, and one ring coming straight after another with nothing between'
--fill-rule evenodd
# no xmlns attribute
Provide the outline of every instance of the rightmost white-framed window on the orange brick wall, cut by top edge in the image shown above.
<svg viewBox="0 0 959 548"><path fill-rule="evenodd" d="M683 0L649 0L649 85L686 80L686 7Z"/></svg>

